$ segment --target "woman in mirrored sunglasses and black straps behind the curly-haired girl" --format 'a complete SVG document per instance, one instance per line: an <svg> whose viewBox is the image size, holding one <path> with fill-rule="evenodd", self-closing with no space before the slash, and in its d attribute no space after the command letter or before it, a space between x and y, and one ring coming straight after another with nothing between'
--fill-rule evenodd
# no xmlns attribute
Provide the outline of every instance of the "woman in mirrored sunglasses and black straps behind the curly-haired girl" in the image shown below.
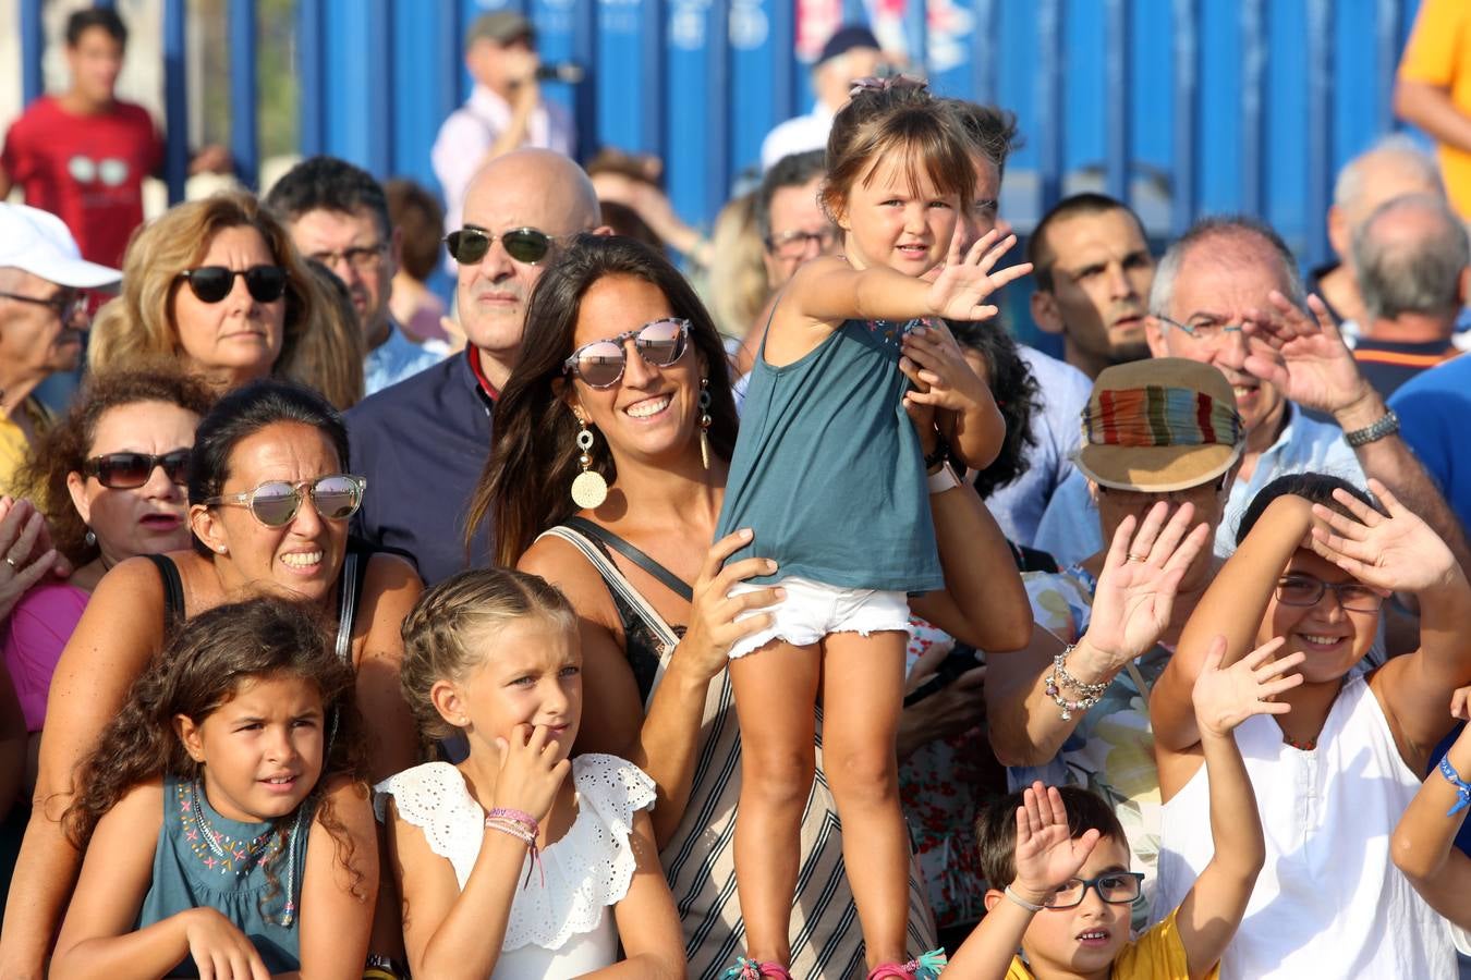
<svg viewBox="0 0 1471 980"><path fill-rule="evenodd" d="M122 472L118 460L97 466ZM81 857L56 823L72 771L179 619L254 595L300 599L356 669L357 702L372 718L374 779L415 761L418 741L399 691L399 629L421 585L403 560L349 541L347 520L365 491L350 472L341 417L315 392L257 382L204 417L188 472L193 551L110 570L57 664L37 783L37 799L49 804L26 829L4 917L7 945L12 936L53 934Z"/></svg>

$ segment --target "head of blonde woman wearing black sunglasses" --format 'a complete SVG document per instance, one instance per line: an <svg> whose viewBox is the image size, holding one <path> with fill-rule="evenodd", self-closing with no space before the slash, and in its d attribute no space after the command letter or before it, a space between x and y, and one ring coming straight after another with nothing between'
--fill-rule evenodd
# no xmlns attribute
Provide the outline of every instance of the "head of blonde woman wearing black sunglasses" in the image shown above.
<svg viewBox="0 0 1471 980"><path fill-rule="evenodd" d="M250 194L171 207L134 234L122 269L93 323L94 370L169 357L225 392L285 373L315 314L302 257Z"/></svg>

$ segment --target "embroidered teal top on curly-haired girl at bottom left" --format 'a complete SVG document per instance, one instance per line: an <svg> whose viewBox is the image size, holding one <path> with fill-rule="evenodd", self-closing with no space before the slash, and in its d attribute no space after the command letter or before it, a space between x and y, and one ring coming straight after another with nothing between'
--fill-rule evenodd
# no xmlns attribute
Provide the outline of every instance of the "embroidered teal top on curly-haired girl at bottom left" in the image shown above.
<svg viewBox="0 0 1471 980"><path fill-rule="evenodd" d="M221 817L199 783L166 777L163 827L153 854L153 884L138 911L137 929L207 905L240 927L271 973L300 970L297 909L312 814L303 805L297 818L279 830L274 827L272 823L240 823ZM212 839L219 845L219 854L210 846ZM277 880L274 893L266 882L268 862ZM197 977L199 967L193 956L185 956L168 976Z"/></svg>

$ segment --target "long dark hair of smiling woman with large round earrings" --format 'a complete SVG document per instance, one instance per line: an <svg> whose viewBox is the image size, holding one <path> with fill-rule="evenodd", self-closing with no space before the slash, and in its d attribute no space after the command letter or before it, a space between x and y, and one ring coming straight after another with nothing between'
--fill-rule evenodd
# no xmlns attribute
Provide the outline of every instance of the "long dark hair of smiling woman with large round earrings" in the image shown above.
<svg viewBox="0 0 1471 980"><path fill-rule="evenodd" d="M736 448L736 400L725 348L715 322L684 276L643 242L616 235L578 235L556 264L541 273L527 307L521 360L496 401L490 458L475 488L465 539L491 520L496 560L515 566L535 536L569 517L577 476L577 419L555 388L572 354L583 297L605 276L633 276L663 292L674 316L690 320L690 342L710 376L710 450L722 460ZM594 447L593 469L618 479L606 447Z"/></svg>

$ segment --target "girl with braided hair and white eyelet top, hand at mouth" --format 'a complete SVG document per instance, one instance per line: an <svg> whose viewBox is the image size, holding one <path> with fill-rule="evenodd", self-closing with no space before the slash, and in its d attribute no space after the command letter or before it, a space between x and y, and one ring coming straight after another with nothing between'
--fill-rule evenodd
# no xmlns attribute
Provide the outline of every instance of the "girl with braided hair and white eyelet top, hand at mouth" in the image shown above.
<svg viewBox="0 0 1471 980"><path fill-rule="evenodd" d="M424 733L469 742L457 767L377 788L413 976L683 977L644 813L653 780L612 755L568 761L583 658L562 594L522 572L462 572L424 594L403 646Z"/></svg>

